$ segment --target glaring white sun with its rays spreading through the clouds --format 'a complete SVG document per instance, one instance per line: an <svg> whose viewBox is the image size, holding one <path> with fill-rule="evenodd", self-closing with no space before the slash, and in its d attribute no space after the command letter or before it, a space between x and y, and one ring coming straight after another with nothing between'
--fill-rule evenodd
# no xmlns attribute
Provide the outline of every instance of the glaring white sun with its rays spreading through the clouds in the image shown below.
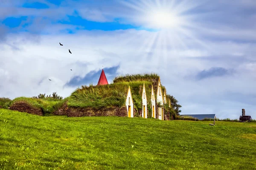
<svg viewBox="0 0 256 170"><path fill-rule="evenodd" d="M163 58L163 62L166 63L167 57L176 55L177 51L183 51L183 54L189 53L191 40L210 50L193 32L193 30L200 30L201 27L195 23L199 15L195 12L191 13L191 10L207 3L207 0L197 2L192 0L119 1L125 8L128 8L125 16L128 23L144 30L154 30L151 34L145 33L145 36L149 35L148 37L140 35L144 42L137 52L142 53L143 59L149 58L148 54L155 54L155 56ZM130 37L129 41L138 37L139 35L134 35Z"/></svg>

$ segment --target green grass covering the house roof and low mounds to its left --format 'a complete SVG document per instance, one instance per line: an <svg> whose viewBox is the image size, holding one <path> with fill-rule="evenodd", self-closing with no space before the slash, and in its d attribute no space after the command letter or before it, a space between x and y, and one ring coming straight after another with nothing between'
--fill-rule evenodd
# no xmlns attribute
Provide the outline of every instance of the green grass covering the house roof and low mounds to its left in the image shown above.
<svg viewBox="0 0 256 170"><path fill-rule="evenodd" d="M143 84L147 96L148 118L151 118L151 88L153 86L155 97L157 95L157 83L159 75L157 74L134 74L118 76L113 79L113 83L109 85L89 85L77 88L73 93L65 99L55 99L40 94L38 97L17 97L14 100L8 98L0 98L0 108L9 108L15 111L26 111L38 115L51 115L64 104L69 108L92 108L100 110L102 108L122 108L125 106L128 87L131 88L132 99L134 102L134 116L142 114L142 93ZM162 86L162 93L166 90ZM59 97L56 92L52 96ZM22 102L22 103L20 103ZM15 105L17 104L17 105ZM156 103L156 105L158 105ZM12 107L13 106L13 107ZM18 109L20 108L20 109ZM169 103L164 106L165 113L175 114L175 111L169 107ZM33 110L34 109L34 110ZM81 110L82 111L82 110ZM140 113L139 113L140 112Z"/></svg>

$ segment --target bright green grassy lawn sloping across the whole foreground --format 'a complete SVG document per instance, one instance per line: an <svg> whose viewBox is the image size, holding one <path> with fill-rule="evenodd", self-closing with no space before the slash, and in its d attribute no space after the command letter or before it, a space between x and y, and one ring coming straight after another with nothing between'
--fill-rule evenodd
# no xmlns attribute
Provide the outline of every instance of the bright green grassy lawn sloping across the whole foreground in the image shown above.
<svg viewBox="0 0 256 170"><path fill-rule="evenodd" d="M256 123L209 123L0 109L0 169L255 170Z"/></svg>

